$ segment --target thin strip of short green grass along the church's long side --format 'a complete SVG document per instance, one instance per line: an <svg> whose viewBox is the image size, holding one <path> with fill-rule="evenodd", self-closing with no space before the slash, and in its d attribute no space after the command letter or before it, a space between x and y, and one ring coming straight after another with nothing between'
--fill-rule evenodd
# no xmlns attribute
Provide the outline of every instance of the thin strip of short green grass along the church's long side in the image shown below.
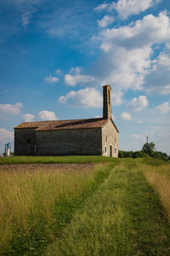
<svg viewBox="0 0 170 256"><path fill-rule="evenodd" d="M101 163L111 162L113 158L96 155L71 155L71 156L11 156L0 158L3 164L56 164L56 163ZM116 159L118 161L118 159Z"/></svg>

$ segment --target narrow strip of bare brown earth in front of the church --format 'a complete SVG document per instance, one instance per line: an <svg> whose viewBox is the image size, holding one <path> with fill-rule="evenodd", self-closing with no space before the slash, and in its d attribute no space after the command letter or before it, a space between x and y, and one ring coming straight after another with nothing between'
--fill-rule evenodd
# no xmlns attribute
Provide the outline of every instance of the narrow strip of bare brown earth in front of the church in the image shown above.
<svg viewBox="0 0 170 256"><path fill-rule="evenodd" d="M1 171L69 171L69 172L89 172L92 171L95 164L18 164L18 165L0 165Z"/></svg>

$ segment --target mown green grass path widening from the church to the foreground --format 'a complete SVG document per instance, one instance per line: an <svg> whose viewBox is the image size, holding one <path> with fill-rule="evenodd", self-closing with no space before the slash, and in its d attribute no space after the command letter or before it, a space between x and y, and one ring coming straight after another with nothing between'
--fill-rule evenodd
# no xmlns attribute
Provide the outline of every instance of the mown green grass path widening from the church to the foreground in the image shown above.
<svg viewBox="0 0 170 256"><path fill-rule="evenodd" d="M170 255L170 225L138 161L122 160L44 255Z"/></svg>

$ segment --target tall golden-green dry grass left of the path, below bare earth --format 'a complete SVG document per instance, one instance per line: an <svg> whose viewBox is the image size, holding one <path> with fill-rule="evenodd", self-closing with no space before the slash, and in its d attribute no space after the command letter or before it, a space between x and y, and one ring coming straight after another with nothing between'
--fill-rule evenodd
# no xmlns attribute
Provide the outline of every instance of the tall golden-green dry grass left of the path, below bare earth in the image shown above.
<svg viewBox="0 0 170 256"><path fill-rule="evenodd" d="M77 201L93 182L94 172L1 171L0 254L41 225L53 240L51 227L65 215L62 205Z"/></svg>

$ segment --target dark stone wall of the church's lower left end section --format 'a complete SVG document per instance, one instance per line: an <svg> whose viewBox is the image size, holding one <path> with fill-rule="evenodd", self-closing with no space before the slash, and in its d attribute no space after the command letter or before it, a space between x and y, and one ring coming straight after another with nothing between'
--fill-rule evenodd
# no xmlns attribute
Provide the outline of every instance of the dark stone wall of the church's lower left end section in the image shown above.
<svg viewBox="0 0 170 256"><path fill-rule="evenodd" d="M14 154L34 154L36 137L34 128L14 129Z"/></svg>

